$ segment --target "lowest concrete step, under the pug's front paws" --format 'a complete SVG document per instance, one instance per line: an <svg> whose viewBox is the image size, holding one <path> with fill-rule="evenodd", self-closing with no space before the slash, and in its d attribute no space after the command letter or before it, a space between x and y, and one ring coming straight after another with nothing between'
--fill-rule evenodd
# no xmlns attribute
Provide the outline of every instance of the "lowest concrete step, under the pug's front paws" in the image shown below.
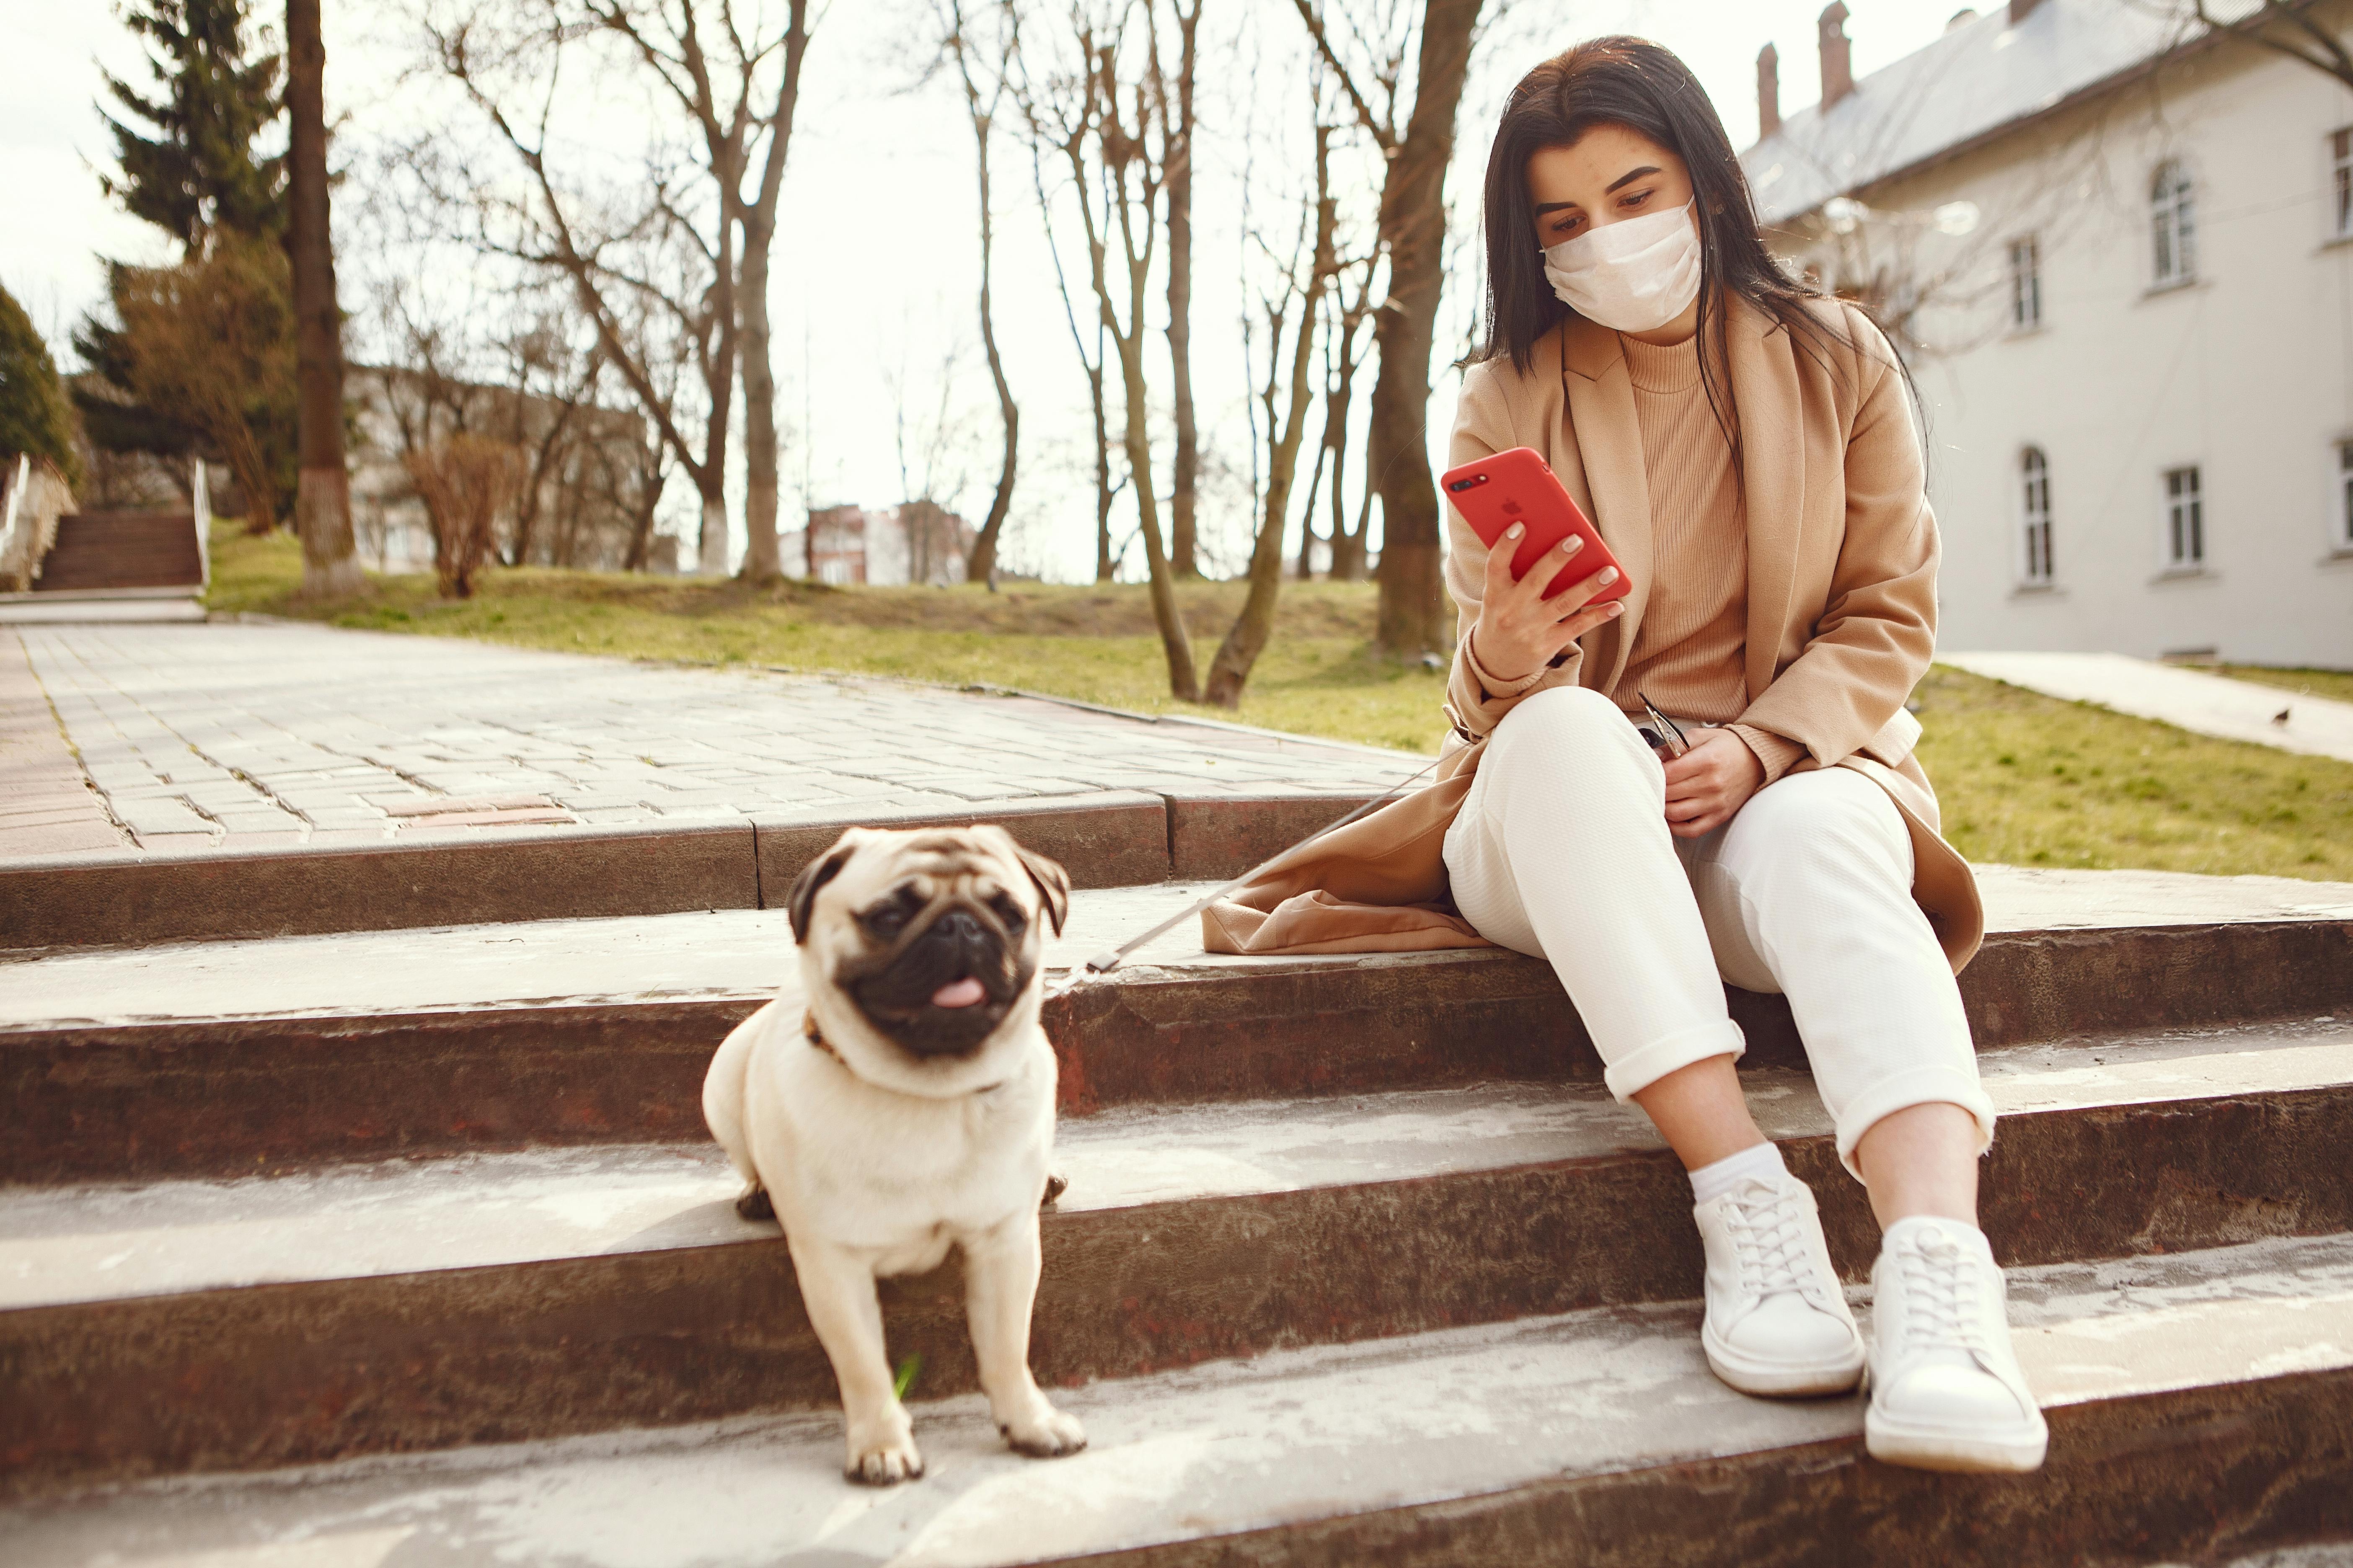
<svg viewBox="0 0 2353 1568"><path fill-rule="evenodd" d="M974 1396L918 1399L929 1474L882 1493L812 1413L127 1486L0 1530L21 1568L2007 1566L2353 1535L2353 1237L2021 1269L2012 1316L2035 1476L1875 1465L1857 1399L1715 1382L1685 1302L1096 1382L1061 1394L1089 1448L1054 1462Z"/></svg>

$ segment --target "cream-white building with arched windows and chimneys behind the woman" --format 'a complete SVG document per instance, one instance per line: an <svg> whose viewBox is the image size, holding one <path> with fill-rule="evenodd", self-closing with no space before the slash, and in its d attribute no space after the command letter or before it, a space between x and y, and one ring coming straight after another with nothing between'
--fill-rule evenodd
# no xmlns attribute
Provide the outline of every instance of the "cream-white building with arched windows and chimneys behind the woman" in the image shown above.
<svg viewBox="0 0 2353 1568"><path fill-rule="evenodd" d="M2353 89L2167 12L2014 0L1854 82L1831 5L1741 162L1906 346L1944 646L2353 668Z"/></svg>

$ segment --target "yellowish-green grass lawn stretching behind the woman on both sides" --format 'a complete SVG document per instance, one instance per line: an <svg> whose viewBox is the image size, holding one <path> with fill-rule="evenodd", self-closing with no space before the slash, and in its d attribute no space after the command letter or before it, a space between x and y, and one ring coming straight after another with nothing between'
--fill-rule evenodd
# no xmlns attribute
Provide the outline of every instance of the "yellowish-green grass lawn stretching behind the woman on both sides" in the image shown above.
<svg viewBox="0 0 2353 1568"><path fill-rule="evenodd" d="M1141 588L812 588L753 590L694 578L485 571L461 604L433 578L374 578L367 599L325 611L292 602L301 552L287 536L214 531L216 611L475 637L532 649L682 663L852 670L946 684L1049 691L1165 712L1160 639ZM1207 665L1240 604L1238 583L1181 590ZM1245 724L1431 752L1445 675L1367 651L1372 588L1287 583L1275 642L1249 679ZM2231 670L2271 684L2353 677ZM2012 865L2261 872L2353 882L2353 764L2214 741L1937 668L1920 701L1920 762L1944 825L1972 860ZM1219 710L1195 710L1219 715Z"/></svg>

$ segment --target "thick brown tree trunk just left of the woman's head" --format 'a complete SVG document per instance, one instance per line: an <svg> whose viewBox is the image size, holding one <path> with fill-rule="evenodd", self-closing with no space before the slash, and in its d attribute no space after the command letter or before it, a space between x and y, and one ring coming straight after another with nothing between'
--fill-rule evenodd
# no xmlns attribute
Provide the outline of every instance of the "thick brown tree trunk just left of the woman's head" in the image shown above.
<svg viewBox="0 0 2353 1568"><path fill-rule="evenodd" d="M1438 487L1424 437L1431 414L1431 336L1445 284L1447 162L1454 158L1454 110L1464 96L1480 0L1428 0L1414 115L1381 183L1388 303L1374 317L1381 374L1372 383L1365 461L1381 489L1379 642L1395 654L1442 649L1447 642ZM1358 548L1362 550L1362 541Z"/></svg>

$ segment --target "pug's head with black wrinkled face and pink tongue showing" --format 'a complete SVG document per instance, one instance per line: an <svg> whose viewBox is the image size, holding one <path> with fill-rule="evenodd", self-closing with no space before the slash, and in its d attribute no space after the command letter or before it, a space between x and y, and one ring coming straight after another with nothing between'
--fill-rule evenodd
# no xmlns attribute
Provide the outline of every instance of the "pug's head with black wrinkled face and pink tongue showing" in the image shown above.
<svg viewBox="0 0 2353 1568"><path fill-rule="evenodd" d="M859 1018L913 1058L962 1058L1038 976L1068 875L1002 827L854 827L793 886L793 940Z"/></svg>

